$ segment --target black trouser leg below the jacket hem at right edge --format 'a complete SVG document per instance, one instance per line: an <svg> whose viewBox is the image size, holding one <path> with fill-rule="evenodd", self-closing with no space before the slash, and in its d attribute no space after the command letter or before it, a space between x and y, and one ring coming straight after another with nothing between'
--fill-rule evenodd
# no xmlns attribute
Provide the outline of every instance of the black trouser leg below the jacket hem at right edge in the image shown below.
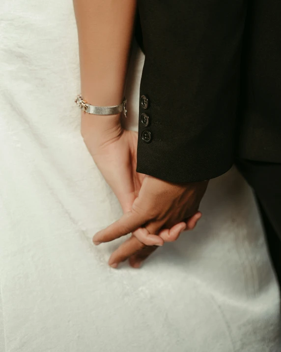
<svg viewBox="0 0 281 352"><path fill-rule="evenodd" d="M236 166L253 188L281 288L281 164L239 159Z"/></svg>

